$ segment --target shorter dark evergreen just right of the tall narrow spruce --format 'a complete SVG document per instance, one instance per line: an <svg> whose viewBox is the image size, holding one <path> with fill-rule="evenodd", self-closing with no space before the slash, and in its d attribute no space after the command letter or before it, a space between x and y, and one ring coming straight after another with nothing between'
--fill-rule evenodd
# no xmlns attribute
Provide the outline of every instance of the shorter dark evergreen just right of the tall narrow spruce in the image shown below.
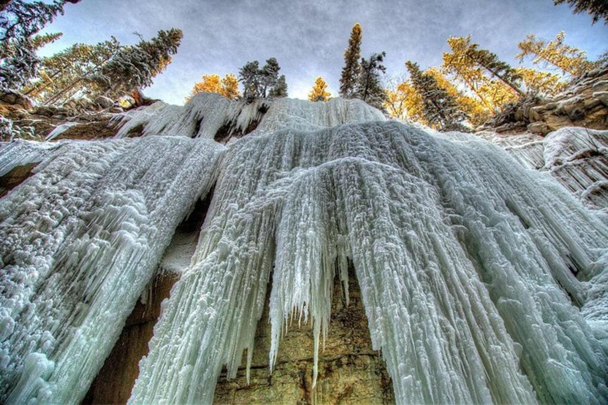
<svg viewBox="0 0 608 405"><path fill-rule="evenodd" d="M386 72L386 67L382 64L386 52L373 53L368 60L361 58L359 77L356 83L355 97L361 98L370 106L380 110L384 109L386 93L380 84L380 73Z"/></svg>

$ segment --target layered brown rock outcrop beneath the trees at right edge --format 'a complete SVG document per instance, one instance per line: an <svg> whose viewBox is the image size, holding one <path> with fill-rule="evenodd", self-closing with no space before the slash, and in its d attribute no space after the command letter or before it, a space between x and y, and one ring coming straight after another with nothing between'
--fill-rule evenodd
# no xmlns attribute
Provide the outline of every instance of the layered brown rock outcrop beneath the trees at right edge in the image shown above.
<svg viewBox="0 0 608 405"><path fill-rule="evenodd" d="M608 129L608 64L582 75L552 98L508 105L478 129L546 135L565 126Z"/></svg>

